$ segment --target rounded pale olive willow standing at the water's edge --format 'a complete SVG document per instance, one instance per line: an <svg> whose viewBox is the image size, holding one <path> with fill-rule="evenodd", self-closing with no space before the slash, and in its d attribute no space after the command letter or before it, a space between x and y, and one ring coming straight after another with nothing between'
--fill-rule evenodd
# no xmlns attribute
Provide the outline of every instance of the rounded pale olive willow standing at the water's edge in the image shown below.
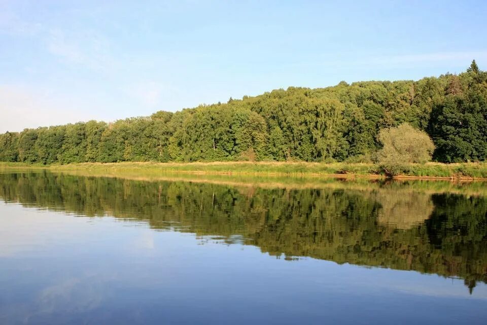
<svg viewBox="0 0 487 325"><path fill-rule="evenodd" d="M377 139L382 144L377 162L388 176L404 172L407 164L430 161L435 149L428 134L407 123L382 129Z"/></svg>

